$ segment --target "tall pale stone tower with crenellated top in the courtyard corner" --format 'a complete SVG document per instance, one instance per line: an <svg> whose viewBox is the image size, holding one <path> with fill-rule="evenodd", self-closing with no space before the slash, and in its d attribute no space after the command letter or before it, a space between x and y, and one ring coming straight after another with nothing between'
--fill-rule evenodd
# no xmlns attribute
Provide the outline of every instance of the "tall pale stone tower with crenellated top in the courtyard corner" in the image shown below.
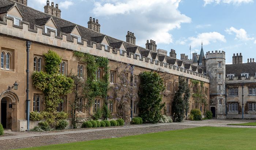
<svg viewBox="0 0 256 150"><path fill-rule="evenodd" d="M208 51L206 53L206 70L210 77L210 110L213 117L226 119L226 97L225 97L225 52Z"/></svg>

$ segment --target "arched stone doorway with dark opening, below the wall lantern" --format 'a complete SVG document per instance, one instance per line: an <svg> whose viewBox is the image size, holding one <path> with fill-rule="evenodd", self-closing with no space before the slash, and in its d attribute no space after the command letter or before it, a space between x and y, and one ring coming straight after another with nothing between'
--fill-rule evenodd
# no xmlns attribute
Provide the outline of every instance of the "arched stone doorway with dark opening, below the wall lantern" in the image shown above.
<svg viewBox="0 0 256 150"><path fill-rule="evenodd" d="M4 91L0 95L0 117L2 118L2 115L6 114L6 121L1 122L6 123L6 129L11 129L12 131L18 131L18 101L18 96L11 90ZM3 107L3 110L1 107ZM3 112L3 114L1 112ZM5 116L3 116L3 118L5 119Z"/></svg>

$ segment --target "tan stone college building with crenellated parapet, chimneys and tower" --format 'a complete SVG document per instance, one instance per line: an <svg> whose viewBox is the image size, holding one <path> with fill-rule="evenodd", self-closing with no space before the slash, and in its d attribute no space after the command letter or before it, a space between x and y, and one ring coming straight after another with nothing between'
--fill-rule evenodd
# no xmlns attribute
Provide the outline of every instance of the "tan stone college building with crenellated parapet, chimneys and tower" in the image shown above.
<svg viewBox="0 0 256 150"><path fill-rule="evenodd" d="M193 54L193 59L181 54L181 60L176 59L175 50L157 49L154 40L147 40L145 48L136 46L134 33L124 35L126 41L104 35L100 31L99 21L88 18L88 28L61 19L58 4L46 1L44 12L27 7L27 0L0 0L0 121L3 126L12 131L25 131L30 125L27 121L29 112L44 110L44 94L33 87L32 74L34 71L45 71L44 55L49 50L62 57L60 74L69 74L72 68L78 74L84 74L86 80L86 65L81 63L73 54L74 51L90 53L109 59L110 84L116 83L115 67L117 62L130 64L134 67L133 75L138 76L143 71L156 71L159 67L172 74L175 78L165 82L168 96L163 96L166 111L163 114L173 116L172 101L178 90L178 77L196 79L204 83L207 106L206 110L213 112L213 117L219 119L256 118L256 65L248 59L242 63L242 55L233 56L233 64L225 63L225 52L215 51L204 54L203 45L200 55ZM78 68L76 70L76 68ZM103 77L103 68L99 68L98 78ZM138 82L139 84L140 82ZM18 90L16 86L18 84ZM139 85L134 85L135 92ZM192 87L191 87L192 89ZM113 96L113 92L108 94ZM112 94L112 95L111 95ZM60 95L63 103L58 111L67 112L68 100L72 94ZM125 103L132 107L132 116L137 117L140 102L127 100ZM81 100L81 103L83 101ZM195 108L191 96L189 110ZM92 106L93 107L93 106ZM102 98L95 98L95 107L102 107ZM200 106L204 108L203 104ZM109 104L112 112L117 111L117 105ZM188 110L188 112L189 112ZM93 108L90 109L93 111ZM202 109L204 112L204 110ZM89 117L89 112L80 110L83 117Z"/></svg>

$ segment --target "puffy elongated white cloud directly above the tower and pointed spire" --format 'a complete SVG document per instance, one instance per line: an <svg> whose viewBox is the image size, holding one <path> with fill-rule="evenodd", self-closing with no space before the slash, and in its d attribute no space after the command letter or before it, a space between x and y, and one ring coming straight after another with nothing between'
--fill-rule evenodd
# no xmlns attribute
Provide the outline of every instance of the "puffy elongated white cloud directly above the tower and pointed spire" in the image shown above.
<svg viewBox="0 0 256 150"><path fill-rule="evenodd" d="M188 37L191 47L198 47L202 44L208 45L217 41L226 42L225 36L218 32L200 33L196 37Z"/></svg>

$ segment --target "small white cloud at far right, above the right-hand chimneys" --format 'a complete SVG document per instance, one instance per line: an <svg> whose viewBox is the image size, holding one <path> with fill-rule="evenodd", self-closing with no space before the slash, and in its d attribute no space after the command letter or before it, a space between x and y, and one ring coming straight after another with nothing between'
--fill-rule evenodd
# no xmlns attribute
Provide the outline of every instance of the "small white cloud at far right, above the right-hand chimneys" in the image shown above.
<svg viewBox="0 0 256 150"><path fill-rule="evenodd" d="M235 40L242 40L242 41L248 41L248 40L253 40L253 37L249 37L249 35L247 35L247 32L245 31L245 29L236 29L234 27L230 27L229 29L225 30L227 33L232 34L233 32L236 33L236 38Z"/></svg>

